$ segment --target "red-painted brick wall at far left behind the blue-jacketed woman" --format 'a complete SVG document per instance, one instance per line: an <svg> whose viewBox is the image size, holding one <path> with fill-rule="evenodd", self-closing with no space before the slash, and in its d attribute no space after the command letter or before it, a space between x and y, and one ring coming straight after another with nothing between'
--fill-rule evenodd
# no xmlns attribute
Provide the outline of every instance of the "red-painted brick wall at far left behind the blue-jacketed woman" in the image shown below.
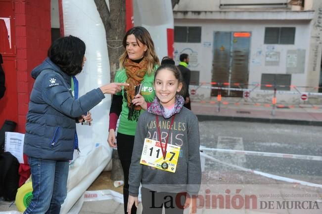
<svg viewBox="0 0 322 214"><path fill-rule="evenodd" d="M46 58L51 43L50 0L0 0L0 14L10 17L12 37L11 52L0 50L7 88L0 99L0 126L13 120L16 131L24 133L34 83L31 70Z"/></svg>

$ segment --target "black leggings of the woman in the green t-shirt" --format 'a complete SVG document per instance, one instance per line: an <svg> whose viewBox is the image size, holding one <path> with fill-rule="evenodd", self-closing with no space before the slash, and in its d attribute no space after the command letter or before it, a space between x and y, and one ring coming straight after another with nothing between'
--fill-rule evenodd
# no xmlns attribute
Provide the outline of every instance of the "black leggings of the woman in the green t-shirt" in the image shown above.
<svg viewBox="0 0 322 214"><path fill-rule="evenodd" d="M124 174L123 198L124 198L124 214L127 214L128 199L129 199L129 171L134 145L134 136L122 133L117 133L116 136L117 151L119 153L121 165ZM136 214L137 208L132 206L131 214Z"/></svg>

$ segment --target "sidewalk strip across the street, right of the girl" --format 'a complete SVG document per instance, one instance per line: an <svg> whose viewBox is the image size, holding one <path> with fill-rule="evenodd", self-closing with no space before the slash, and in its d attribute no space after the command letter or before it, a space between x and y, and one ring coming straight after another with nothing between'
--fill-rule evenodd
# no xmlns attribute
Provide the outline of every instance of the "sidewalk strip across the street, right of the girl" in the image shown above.
<svg viewBox="0 0 322 214"><path fill-rule="evenodd" d="M322 105L276 105L275 114L272 115L272 105L244 101L236 105L237 100L239 98L230 98L229 104L222 102L220 111L214 99L192 101L191 109L199 121L232 120L322 126Z"/></svg>

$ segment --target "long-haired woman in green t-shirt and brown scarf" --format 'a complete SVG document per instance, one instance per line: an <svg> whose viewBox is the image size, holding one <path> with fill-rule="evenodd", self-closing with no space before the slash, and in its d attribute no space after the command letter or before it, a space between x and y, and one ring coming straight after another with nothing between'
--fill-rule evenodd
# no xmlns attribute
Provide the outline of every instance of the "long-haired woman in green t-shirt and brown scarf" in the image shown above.
<svg viewBox="0 0 322 214"><path fill-rule="evenodd" d="M129 169L131 165L134 135L138 117L155 97L153 81L154 71L159 66L159 58L149 32L143 27L130 29L123 39L124 52L120 56L120 69L115 74L115 83L128 83L121 92L113 95L110 109L108 144L116 148L124 172L124 213L127 214L129 197ZM135 87L141 86L136 94ZM118 118L120 122L115 137ZM116 146L117 141L117 146ZM137 213L135 206L132 214Z"/></svg>

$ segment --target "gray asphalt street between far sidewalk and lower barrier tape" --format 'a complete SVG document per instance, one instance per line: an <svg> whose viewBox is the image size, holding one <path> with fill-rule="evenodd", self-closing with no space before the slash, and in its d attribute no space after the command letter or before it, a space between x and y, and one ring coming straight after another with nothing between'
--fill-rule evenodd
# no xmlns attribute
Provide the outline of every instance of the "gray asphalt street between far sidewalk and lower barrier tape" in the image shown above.
<svg viewBox="0 0 322 214"><path fill-rule="evenodd" d="M199 123L203 146L234 150L321 156L321 127L231 121ZM207 152L222 161L276 175L322 184L319 161ZM221 164L210 164L223 170ZM231 168L224 169L231 170Z"/></svg>

